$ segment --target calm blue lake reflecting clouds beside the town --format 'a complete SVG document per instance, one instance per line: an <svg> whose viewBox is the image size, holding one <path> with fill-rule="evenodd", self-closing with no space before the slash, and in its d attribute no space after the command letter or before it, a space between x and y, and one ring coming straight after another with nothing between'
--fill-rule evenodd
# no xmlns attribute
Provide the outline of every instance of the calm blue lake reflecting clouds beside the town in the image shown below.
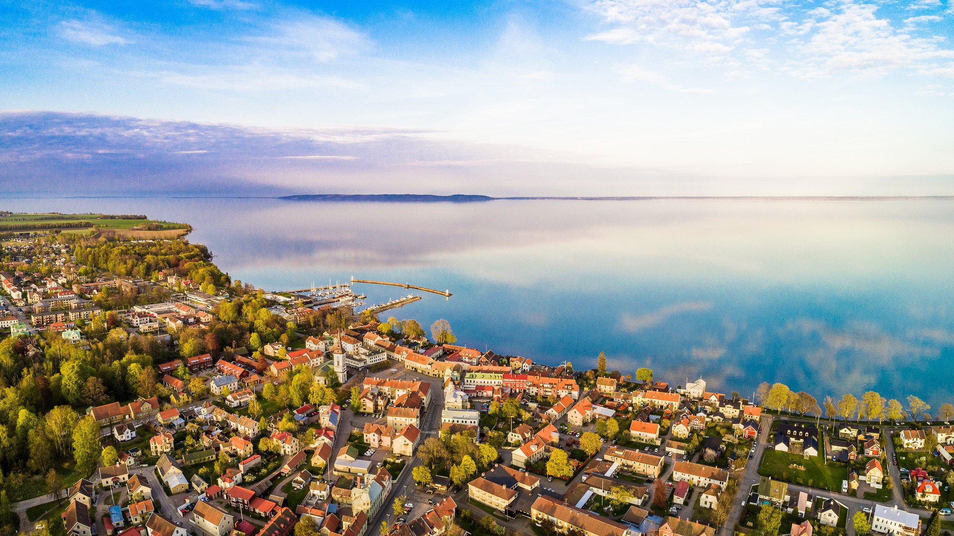
<svg viewBox="0 0 954 536"><path fill-rule="evenodd" d="M781 381L954 402L954 202L4 199L184 221L266 290L355 278L448 289L384 315L458 342L751 395ZM355 286L370 303L408 291Z"/></svg>

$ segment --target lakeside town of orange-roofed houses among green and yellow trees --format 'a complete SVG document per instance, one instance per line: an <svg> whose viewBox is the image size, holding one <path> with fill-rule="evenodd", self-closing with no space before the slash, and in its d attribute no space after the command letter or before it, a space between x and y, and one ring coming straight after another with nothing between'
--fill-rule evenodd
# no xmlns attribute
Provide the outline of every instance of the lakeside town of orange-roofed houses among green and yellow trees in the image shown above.
<svg viewBox="0 0 954 536"><path fill-rule="evenodd" d="M45 229L0 258L2 534L954 527L951 404L497 355L358 311L346 283L233 281L178 237Z"/></svg>

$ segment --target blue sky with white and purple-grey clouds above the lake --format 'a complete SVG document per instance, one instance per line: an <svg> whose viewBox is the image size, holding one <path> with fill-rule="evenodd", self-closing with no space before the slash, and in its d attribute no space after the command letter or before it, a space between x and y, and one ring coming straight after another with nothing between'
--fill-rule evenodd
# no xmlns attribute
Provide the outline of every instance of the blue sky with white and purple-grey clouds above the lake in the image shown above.
<svg viewBox="0 0 954 536"><path fill-rule="evenodd" d="M0 2L7 196L954 195L949 0Z"/></svg>

